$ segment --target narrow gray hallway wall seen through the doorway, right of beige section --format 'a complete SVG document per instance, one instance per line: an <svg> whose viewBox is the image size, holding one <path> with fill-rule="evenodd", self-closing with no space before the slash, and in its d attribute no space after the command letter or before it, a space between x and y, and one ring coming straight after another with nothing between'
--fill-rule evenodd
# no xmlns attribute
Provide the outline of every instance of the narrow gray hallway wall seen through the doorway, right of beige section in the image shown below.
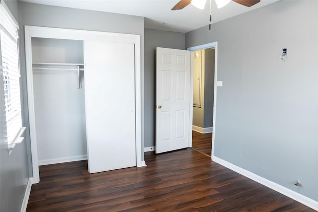
<svg viewBox="0 0 318 212"><path fill-rule="evenodd" d="M204 50L204 118L203 128L213 125L213 96L214 96L214 59L215 50Z"/></svg>

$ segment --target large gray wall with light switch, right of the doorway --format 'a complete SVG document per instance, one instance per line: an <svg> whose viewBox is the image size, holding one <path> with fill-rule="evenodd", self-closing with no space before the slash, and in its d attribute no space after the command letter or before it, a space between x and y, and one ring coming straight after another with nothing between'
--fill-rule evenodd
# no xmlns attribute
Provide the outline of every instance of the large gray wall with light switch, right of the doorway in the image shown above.
<svg viewBox="0 0 318 212"><path fill-rule="evenodd" d="M186 47L218 42L215 156L315 201L317 11L317 1L278 1L186 34Z"/></svg>

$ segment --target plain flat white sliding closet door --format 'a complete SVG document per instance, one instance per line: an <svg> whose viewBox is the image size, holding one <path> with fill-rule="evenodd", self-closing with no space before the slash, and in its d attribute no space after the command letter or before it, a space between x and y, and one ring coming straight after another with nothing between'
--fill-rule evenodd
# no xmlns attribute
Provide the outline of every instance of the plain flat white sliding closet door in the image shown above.
<svg viewBox="0 0 318 212"><path fill-rule="evenodd" d="M136 166L135 45L84 42L88 172Z"/></svg>

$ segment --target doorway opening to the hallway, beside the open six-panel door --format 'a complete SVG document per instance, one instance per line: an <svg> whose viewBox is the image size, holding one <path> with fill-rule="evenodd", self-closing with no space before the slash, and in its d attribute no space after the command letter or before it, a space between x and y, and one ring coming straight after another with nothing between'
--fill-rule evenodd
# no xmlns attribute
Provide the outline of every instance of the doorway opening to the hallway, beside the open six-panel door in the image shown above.
<svg viewBox="0 0 318 212"><path fill-rule="evenodd" d="M212 155L215 134L217 43L188 48L193 73L192 149Z"/></svg>

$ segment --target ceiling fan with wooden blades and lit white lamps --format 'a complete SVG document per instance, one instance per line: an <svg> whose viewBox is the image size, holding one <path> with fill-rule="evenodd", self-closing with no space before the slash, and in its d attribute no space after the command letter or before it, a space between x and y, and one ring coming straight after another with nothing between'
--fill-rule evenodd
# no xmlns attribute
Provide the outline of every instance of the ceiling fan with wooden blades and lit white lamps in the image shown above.
<svg viewBox="0 0 318 212"><path fill-rule="evenodd" d="M192 4L194 4L194 2L198 3L199 5L196 6L198 8L200 7L200 3L204 7L205 0L203 0L203 1L202 0L180 0L177 4L174 5L174 7L172 7L171 10L183 9L184 7L189 5L191 3L191 1L192 1ZM233 0L233 1L249 7L249 6L252 6L252 5L258 3L260 0ZM216 0L216 2L218 5L218 8L221 8L221 7L225 6L228 2L230 2L230 0ZM203 8L201 8L201 9L203 9Z"/></svg>

